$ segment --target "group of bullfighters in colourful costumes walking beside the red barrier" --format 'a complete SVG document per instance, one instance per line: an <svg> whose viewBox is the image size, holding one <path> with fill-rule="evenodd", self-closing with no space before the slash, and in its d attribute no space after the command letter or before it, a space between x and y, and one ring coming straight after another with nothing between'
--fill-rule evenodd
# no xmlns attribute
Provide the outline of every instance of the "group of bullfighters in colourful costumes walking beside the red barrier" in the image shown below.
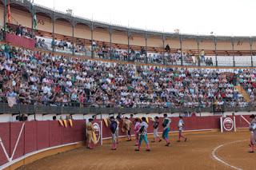
<svg viewBox="0 0 256 170"><path fill-rule="evenodd" d="M93 149L94 147L94 125L93 125L93 121L94 119L89 119L89 122L86 124L86 141L87 141L87 148L89 149ZM111 132L111 136L112 136L112 146L111 146L111 150L116 150L117 146L118 146L118 133L119 133L119 125L122 126L122 132L126 132L126 137L127 140L126 141L130 141L132 140L131 137L131 130L133 129L134 131L134 138L135 138L135 146L137 146L137 148L135 148L135 151L140 151L141 146L142 146L142 141L144 141L146 143L146 151L149 152L150 151L150 142L148 140L148 133L147 133L147 128L149 128L148 125L148 121L149 118L148 117L142 117L142 118L130 118L128 119L128 117L110 117L108 118L109 121L109 128L110 128L110 132ZM158 128L160 125L159 122L159 117L154 117L152 118L150 121L153 121L153 128L154 128L154 138L152 140L152 143L156 142L156 140L158 140L158 142L161 142L162 140L166 141L166 145L165 146L169 146L170 145L170 140L169 140L169 132L170 132L170 123L171 120L169 117L167 117L167 114L164 114L164 119L162 121L162 128L163 128L163 132L162 132L162 139L160 138L160 136L158 135ZM184 139L184 141L186 142L187 138L186 136L182 135L184 129L184 121L182 120L182 117L179 117L179 121L178 121L178 140L177 142L181 141L181 138Z"/></svg>

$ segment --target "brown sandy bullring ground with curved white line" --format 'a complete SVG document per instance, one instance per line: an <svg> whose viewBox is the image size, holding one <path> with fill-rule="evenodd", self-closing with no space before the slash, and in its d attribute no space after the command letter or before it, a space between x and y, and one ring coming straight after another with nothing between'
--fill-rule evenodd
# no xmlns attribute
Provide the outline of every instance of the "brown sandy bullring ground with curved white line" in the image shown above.
<svg viewBox="0 0 256 170"><path fill-rule="evenodd" d="M187 134L187 142L176 142L177 134L171 134L170 147L165 143L150 143L151 152L146 152L142 144L140 152L134 151L134 140L122 141L118 150L111 151L110 144L103 144L94 150L78 148L37 160L20 170L46 169L85 169L85 170L166 170L166 169L233 169L214 160L212 152L221 144L237 140L246 140L226 144L219 148L216 155L226 163L241 169L256 169L256 152L248 153L250 132L208 132ZM248 140L247 140L248 139Z"/></svg>

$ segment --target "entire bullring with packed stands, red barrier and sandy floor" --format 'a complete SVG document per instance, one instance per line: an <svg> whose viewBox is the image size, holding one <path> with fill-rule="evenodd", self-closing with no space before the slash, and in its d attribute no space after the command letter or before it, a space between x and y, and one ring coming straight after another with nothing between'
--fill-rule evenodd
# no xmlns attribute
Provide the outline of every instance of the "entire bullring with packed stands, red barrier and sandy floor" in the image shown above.
<svg viewBox="0 0 256 170"><path fill-rule="evenodd" d="M138 30L26 0L0 1L0 18L0 169L256 169L255 37ZM150 152L135 146L146 134Z"/></svg>

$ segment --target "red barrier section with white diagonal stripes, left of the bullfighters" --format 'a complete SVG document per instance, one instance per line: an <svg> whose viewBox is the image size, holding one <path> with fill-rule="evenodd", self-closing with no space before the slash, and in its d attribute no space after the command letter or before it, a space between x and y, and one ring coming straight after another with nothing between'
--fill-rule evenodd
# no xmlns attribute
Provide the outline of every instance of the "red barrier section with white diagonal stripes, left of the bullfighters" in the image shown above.
<svg viewBox="0 0 256 170"><path fill-rule="evenodd" d="M66 128L58 121L0 123L0 169L30 152L38 152L84 140L85 121L74 121ZM1 167L2 166L2 167Z"/></svg>

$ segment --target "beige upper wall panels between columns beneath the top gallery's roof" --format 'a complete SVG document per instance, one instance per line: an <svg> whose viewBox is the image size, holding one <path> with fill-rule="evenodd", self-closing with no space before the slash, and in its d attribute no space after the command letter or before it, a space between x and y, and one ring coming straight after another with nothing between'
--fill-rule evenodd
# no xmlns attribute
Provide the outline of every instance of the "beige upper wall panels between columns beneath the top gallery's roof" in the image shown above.
<svg viewBox="0 0 256 170"><path fill-rule="evenodd" d="M31 27L31 14L22 10L11 8L11 23L13 24L21 24L22 26ZM2 26L2 18L3 18L3 6L0 5L0 25ZM37 14L38 18L38 30L43 30L51 33L53 30L53 23L50 18L42 16L42 14ZM55 34L63 34L66 36L72 36L72 26L70 22L59 21L57 20L54 23L54 32ZM91 38L91 31L89 26L84 26L78 24L74 28L74 37L76 38ZM94 40L101 42L110 42L110 34L109 30L104 30L100 28L96 28L93 34ZM118 44L128 44L127 33L122 31L114 30L112 34L112 43ZM169 44L172 49L179 49L180 42L178 38L166 38L165 45ZM145 36L143 34L132 34L130 39L130 45L141 45L145 46ZM151 47L162 48L162 37L161 36L150 36L147 39L147 45ZM199 49L212 49L214 50L214 39L210 40L200 40ZM196 39L185 39L182 40L182 49L198 49L198 43ZM250 43L242 42L238 43L238 41L234 42L235 50L249 50ZM253 43L252 49L256 50L256 42ZM231 42L217 42L217 50L232 50Z"/></svg>

